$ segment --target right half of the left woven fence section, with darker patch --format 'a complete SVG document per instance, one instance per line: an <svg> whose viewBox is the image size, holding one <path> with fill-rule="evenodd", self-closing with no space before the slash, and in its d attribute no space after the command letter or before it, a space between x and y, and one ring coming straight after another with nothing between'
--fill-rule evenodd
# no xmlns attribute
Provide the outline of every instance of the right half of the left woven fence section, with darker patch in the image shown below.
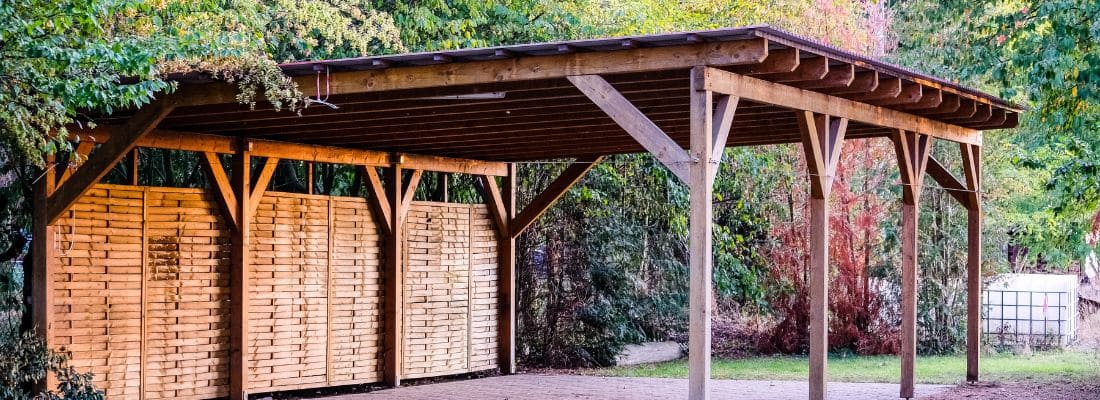
<svg viewBox="0 0 1100 400"><path fill-rule="evenodd" d="M145 200L145 399L229 395L229 233L204 191Z"/></svg>

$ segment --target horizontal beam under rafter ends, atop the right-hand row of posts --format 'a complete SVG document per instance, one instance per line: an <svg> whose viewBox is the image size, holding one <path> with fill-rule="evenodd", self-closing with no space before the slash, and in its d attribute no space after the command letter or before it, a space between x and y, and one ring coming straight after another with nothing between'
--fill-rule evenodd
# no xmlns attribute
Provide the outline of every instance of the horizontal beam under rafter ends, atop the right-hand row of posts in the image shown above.
<svg viewBox="0 0 1100 400"><path fill-rule="evenodd" d="M706 68L710 90L738 96L741 99L811 111L851 121L928 135L960 143L981 144L981 132L953 125L902 111L823 95L810 90L773 84L717 68Z"/></svg>

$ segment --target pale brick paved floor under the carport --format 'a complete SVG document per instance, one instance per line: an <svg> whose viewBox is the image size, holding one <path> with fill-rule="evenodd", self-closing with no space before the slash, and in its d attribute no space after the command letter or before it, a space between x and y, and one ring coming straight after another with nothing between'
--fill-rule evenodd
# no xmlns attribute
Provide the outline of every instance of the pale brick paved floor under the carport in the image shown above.
<svg viewBox="0 0 1100 400"><path fill-rule="evenodd" d="M804 400L805 381L712 380L713 399ZM942 392L944 385L917 385L916 397ZM828 386L831 399L898 399L894 384L840 384ZM328 400L550 400L550 399L684 399L685 379L608 378L578 375L512 375L345 395Z"/></svg>

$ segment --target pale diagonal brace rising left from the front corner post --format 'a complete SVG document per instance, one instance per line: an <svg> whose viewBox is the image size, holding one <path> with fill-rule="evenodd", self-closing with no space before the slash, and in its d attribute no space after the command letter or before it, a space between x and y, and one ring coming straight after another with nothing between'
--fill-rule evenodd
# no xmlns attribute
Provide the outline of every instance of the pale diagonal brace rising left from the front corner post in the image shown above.
<svg viewBox="0 0 1100 400"><path fill-rule="evenodd" d="M688 166L692 163L688 152L672 141L664 131L641 113L610 84L597 75L569 77L588 99L607 113L626 133L664 164L681 181L688 182Z"/></svg>

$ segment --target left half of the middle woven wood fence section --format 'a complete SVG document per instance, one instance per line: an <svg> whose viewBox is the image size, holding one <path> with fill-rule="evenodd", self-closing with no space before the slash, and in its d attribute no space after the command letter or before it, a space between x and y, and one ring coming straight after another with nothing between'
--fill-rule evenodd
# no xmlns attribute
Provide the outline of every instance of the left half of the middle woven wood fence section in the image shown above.
<svg viewBox="0 0 1100 400"><path fill-rule="evenodd" d="M253 391L327 385L328 198L264 195L252 222Z"/></svg>

